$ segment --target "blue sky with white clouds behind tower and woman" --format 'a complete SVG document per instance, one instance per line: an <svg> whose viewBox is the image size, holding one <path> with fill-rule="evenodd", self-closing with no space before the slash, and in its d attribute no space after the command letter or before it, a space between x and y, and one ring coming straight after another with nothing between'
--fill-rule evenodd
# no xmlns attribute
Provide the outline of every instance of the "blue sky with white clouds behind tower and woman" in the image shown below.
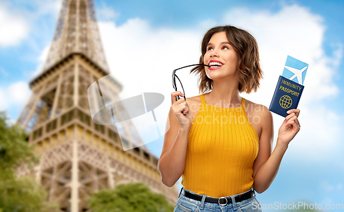
<svg viewBox="0 0 344 212"><path fill-rule="evenodd" d="M41 71L60 5L57 0L0 1L0 109L12 120L30 97L28 82ZM242 27L257 38L265 75L257 93L244 95L253 102L270 104L288 54L308 62L299 104L301 131L290 143L275 181L258 200L316 202L323 209L325 204L344 204L344 1L96 0L95 5L107 62L125 87L123 96L133 89L159 89L171 104L169 71L197 61L202 35L219 24ZM129 78L127 69L117 66L118 61L135 61L133 69L138 70L136 64L149 60L154 64L135 73L146 82L155 80L153 86ZM198 95L197 78L178 76L190 82L184 86L187 93ZM137 84L140 87L133 86ZM276 132L282 121L274 115ZM147 146L160 156L162 141Z"/></svg>

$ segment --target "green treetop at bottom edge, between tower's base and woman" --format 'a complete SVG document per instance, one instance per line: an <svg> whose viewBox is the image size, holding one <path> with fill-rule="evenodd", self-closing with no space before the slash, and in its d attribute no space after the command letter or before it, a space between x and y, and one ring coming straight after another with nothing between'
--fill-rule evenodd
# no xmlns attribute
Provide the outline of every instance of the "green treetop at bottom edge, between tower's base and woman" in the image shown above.
<svg viewBox="0 0 344 212"><path fill-rule="evenodd" d="M94 193L89 206L97 212L172 212L174 208L163 195L153 193L142 182L120 184L115 189Z"/></svg>

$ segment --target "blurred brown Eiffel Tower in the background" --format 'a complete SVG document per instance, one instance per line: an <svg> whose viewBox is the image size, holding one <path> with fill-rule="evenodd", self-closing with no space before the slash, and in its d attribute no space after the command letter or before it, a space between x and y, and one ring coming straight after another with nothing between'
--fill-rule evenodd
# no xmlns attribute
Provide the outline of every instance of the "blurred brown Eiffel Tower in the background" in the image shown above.
<svg viewBox="0 0 344 212"><path fill-rule="evenodd" d="M36 178L60 211L89 211L92 193L123 182L144 182L176 202L177 188L162 184L156 156L144 146L123 151L120 134L129 144L140 141L132 123L119 129L92 121L87 88L106 75L93 0L63 0L43 71L30 82L32 96L18 119L41 160L33 173L21 167L18 174ZM106 86L118 99L122 85L111 78ZM114 113L127 115L120 106Z"/></svg>

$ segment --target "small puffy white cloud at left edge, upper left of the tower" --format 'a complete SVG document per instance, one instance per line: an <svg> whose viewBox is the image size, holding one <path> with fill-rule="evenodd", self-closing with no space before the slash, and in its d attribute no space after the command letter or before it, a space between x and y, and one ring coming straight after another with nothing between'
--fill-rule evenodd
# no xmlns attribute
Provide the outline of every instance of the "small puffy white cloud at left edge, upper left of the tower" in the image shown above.
<svg viewBox="0 0 344 212"><path fill-rule="evenodd" d="M13 12L0 2L0 46L19 45L29 33L28 23L18 12Z"/></svg>

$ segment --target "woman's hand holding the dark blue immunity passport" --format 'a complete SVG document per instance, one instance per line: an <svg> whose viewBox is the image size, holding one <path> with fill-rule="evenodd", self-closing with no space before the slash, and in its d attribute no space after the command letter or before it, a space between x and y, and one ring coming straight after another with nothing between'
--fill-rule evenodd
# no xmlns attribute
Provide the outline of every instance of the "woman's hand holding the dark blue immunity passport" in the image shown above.
<svg viewBox="0 0 344 212"><path fill-rule="evenodd" d="M284 119L282 126L279 128L279 136L277 142L287 145L294 139L297 132L300 130L300 123L297 117L299 117L300 110L292 109L287 112L289 115Z"/></svg>

